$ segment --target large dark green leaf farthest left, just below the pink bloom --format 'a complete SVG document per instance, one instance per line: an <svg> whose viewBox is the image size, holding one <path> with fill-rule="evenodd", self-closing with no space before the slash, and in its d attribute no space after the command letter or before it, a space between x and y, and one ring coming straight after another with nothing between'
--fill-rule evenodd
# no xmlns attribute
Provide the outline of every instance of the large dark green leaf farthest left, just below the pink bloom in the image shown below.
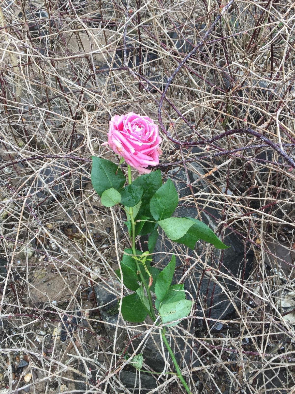
<svg viewBox="0 0 295 394"><path fill-rule="evenodd" d="M92 156L91 183L100 197L107 189L121 190L125 182L125 175L115 163Z"/></svg>

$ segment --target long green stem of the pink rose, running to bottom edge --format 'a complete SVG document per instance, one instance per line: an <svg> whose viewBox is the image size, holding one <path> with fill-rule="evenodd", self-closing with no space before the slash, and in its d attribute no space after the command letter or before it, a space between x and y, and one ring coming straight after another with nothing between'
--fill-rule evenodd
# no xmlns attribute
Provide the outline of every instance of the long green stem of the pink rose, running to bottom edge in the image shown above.
<svg viewBox="0 0 295 394"><path fill-rule="evenodd" d="M128 168L128 184L131 185L131 183L132 183L131 166L129 164L127 164L127 168ZM133 251L133 254L136 256L136 249L135 249L135 221L134 221L134 217L133 217L133 208L129 208L129 215L130 215L130 221L131 221L132 251ZM151 315L152 315L153 321L155 322L156 315L155 315L155 311L154 311L154 308L153 308L153 301L151 299L151 291L149 290L149 286L147 285L146 280L144 279L144 277L142 275L142 272L141 272L141 269L139 267L138 261L135 260L135 259L134 259L134 261L135 261L135 264L136 264L136 269L137 269L137 271L139 273L139 276L140 276L140 280L142 281L142 284L144 285L144 287L146 289L147 298L149 300L149 309L151 310ZM188 385L186 384L186 381L184 380L183 375L181 374L181 370L180 370L180 368L179 368L179 366L177 364L177 361L176 361L175 355L173 353L173 350L170 348L168 340L167 340L167 338L165 336L165 332L166 332L165 328L162 328L161 329L162 339L163 339L163 342L164 342L164 344L165 344L165 346L166 346L166 348L167 348L167 350L168 350L168 352L170 354L170 357L171 357L171 359L173 361L173 364L175 366L175 370L177 372L177 376L178 376L179 380L181 381L181 383L183 384L183 387L186 389L186 392L188 394L192 394L192 392L190 391L190 388L188 387Z"/></svg>

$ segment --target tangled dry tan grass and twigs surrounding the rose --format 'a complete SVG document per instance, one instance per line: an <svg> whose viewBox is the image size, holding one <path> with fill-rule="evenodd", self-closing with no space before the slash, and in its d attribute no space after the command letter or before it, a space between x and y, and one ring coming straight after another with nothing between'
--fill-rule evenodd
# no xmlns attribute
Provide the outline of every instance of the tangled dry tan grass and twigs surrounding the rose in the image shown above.
<svg viewBox="0 0 295 394"><path fill-rule="evenodd" d="M133 110L157 119L159 108L163 174L184 166L205 182L204 199L195 181L198 209L218 209L218 233L227 226L255 255L251 277L232 278L240 290L229 300L242 299L235 314L214 322L204 311L203 318L190 316L188 327L197 320L197 331L171 329L189 349L184 375L199 394L295 390L294 7L289 0L224 5L2 3L0 257L7 275L1 273L0 376L9 392L19 392L17 381L28 372L34 393L79 392L75 379L87 381L80 392L133 392L120 381L126 361L118 353L140 329L146 336L134 354L150 333L162 353L148 324L121 321L107 340L88 297L96 283L120 297L124 289L112 281L128 245L122 212L100 206L92 190L90 156L109 157L100 144L110 116ZM184 202L195 204L192 196ZM206 270L211 248L200 250L190 265L203 256ZM183 250L173 253L186 264ZM227 277L210 275L218 283ZM65 316L77 318L76 341L61 345L56 333ZM14 381L19 355L30 365ZM161 379L150 392L183 392L175 376Z"/></svg>

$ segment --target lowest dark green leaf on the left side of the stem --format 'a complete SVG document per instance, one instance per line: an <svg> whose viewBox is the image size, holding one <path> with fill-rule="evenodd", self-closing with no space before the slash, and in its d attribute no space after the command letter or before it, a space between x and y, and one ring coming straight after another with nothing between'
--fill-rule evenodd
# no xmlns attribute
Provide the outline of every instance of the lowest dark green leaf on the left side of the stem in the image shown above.
<svg viewBox="0 0 295 394"><path fill-rule="evenodd" d="M122 299L121 313L124 320L132 323L141 323L146 318L148 311L140 301L138 294L133 293Z"/></svg>

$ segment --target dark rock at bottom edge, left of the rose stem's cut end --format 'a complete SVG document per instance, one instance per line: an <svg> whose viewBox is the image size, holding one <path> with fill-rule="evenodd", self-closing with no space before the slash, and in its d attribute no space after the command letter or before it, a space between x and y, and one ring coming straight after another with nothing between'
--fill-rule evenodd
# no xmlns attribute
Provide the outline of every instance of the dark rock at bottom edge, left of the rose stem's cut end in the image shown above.
<svg viewBox="0 0 295 394"><path fill-rule="evenodd" d="M121 371L119 377L126 388L136 388L136 393L139 394L145 394L159 385L152 375L144 374L143 372L140 372L139 376L139 374L135 372ZM138 391L139 386L140 391Z"/></svg>

